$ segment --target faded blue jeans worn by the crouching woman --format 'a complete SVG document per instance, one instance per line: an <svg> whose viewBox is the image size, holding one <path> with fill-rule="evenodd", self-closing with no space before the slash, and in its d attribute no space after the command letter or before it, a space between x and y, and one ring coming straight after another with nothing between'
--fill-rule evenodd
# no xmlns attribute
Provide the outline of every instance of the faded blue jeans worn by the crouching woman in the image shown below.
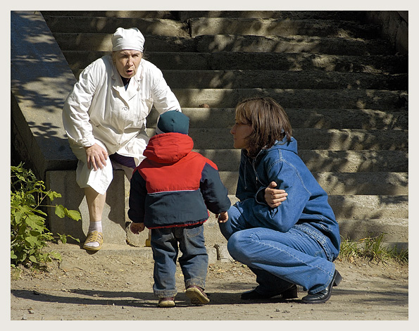
<svg viewBox="0 0 419 331"><path fill-rule="evenodd" d="M257 227L234 205L228 211L227 223L220 223L220 231L228 240L230 255L256 274L257 292L280 294L296 284L315 294L330 284L334 256L323 233L304 224L279 232L256 222Z"/></svg>

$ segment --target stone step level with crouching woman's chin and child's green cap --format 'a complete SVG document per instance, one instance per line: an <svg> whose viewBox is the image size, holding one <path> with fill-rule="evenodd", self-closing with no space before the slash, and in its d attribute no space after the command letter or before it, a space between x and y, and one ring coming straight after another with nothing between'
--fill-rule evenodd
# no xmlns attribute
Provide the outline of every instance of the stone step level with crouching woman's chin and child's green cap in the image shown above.
<svg viewBox="0 0 419 331"><path fill-rule="evenodd" d="M154 135L153 128L147 134ZM408 151L407 130L356 130L356 129L294 129L293 137L299 149L325 149L329 151ZM232 149L230 128L192 128L189 136L195 149Z"/></svg>

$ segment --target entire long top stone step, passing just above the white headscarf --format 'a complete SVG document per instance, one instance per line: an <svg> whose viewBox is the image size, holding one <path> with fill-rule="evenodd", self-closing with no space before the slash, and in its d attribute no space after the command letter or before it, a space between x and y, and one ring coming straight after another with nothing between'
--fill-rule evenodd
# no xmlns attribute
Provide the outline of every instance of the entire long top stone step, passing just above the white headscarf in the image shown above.
<svg viewBox="0 0 419 331"><path fill-rule="evenodd" d="M164 18L86 18L83 16L44 15L52 32L113 33L118 27L137 27L144 35L196 37L198 35L275 35L289 37L345 37L375 39L379 28L359 22L334 20L289 20L284 18L191 18L187 23Z"/></svg>

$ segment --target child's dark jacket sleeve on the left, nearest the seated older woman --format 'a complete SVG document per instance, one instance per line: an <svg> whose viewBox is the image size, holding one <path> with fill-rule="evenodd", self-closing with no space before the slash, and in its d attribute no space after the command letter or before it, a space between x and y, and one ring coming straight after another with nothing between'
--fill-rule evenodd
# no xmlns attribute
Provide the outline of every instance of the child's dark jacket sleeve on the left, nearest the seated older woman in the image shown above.
<svg viewBox="0 0 419 331"><path fill-rule="evenodd" d="M128 217L134 223L144 222L146 196L146 181L139 172L135 170L134 173L132 173L130 182L130 208L128 209Z"/></svg>

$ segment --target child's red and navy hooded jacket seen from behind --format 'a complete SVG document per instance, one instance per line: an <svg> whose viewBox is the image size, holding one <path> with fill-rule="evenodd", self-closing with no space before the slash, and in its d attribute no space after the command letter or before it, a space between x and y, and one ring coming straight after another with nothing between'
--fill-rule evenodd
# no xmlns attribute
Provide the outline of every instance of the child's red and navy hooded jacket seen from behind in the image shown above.
<svg viewBox="0 0 419 331"><path fill-rule="evenodd" d="M230 208L227 189L211 160L192 151L188 135L170 132L151 137L146 158L131 179L128 216L149 229L204 223L208 210Z"/></svg>

